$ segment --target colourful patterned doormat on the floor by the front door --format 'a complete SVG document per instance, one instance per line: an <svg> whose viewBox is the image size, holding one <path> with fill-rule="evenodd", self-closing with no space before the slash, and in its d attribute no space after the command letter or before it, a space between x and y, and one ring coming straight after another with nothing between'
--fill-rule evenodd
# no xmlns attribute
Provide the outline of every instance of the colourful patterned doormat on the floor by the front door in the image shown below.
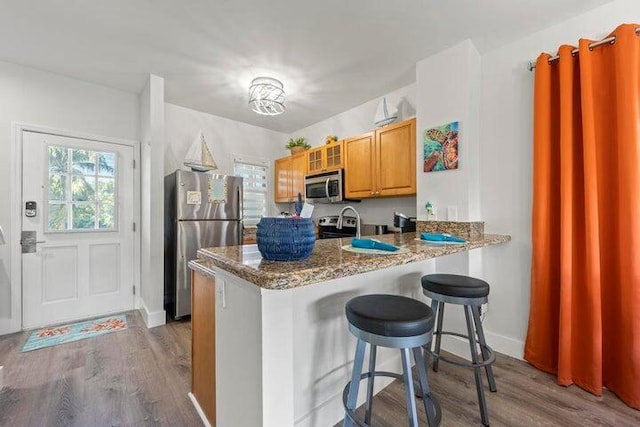
<svg viewBox="0 0 640 427"><path fill-rule="evenodd" d="M22 348L22 352L97 337L124 329L127 329L127 318L124 314L43 328L31 334Z"/></svg>

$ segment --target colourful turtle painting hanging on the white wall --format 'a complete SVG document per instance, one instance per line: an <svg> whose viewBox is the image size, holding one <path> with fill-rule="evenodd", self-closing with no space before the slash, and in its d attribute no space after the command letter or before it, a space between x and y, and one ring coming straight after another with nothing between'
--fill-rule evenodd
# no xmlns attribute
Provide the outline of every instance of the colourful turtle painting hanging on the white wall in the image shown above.
<svg viewBox="0 0 640 427"><path fill-rule="evenodd" d="M458 169L459 124L456 121L424 131L425 172Z"/></svg>

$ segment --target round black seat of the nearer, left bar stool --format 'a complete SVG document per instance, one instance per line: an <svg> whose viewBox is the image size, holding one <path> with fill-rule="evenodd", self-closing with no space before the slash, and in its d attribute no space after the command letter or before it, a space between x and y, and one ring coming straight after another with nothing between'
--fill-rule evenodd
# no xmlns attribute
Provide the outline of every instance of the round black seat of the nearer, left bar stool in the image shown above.
<svg viewBox="0 0 640 427"><path fill-rule="evenodd" d="M431 332L435 322L428 305L398 295L363 295L346 305L356 328L385 337L411 337Z"/></svg>

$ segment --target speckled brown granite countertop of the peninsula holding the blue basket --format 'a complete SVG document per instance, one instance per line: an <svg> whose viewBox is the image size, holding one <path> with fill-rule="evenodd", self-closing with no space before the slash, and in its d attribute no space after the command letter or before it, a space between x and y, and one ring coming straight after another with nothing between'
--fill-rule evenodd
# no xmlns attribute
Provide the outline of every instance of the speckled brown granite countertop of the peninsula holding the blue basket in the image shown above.
<svg viewBox="0 0 640 427"><path fill-rule="evenodd" d="M511 236L483 234L459 245L431 244L416 240L416 233L372 236L408 251L392 255L357 254L342 250L351 238L317 240L311 256L302 261L262 259L257 245L203 248L190 266L200 272L219 267L266 289L291 289L410 262L423 261L456 252L505 243Z"/></svg>

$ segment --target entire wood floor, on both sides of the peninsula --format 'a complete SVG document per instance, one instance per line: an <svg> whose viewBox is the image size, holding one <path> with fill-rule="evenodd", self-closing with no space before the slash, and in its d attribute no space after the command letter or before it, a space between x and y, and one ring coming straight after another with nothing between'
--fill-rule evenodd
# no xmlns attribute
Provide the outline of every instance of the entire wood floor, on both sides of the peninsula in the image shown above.
<svg viewBox="0 0 640 427"><path fill-rule="evenodd" d="M28 353L20 353L27 332L0 337L0 426L201 426L187 398L190 323L147 329L138 312L127 313L127 321L126 331ZM640 425L640 411L608 391L599 398L560 387L553 376L502 355L494 373L498 392L487 392L492 426ZM471 370L441 363L429 382L442 426L481 425ZM424 409L420 416L426 425ZM404 389L394 382L374 399L373 425L405 426L405 417Z"/></svg>

